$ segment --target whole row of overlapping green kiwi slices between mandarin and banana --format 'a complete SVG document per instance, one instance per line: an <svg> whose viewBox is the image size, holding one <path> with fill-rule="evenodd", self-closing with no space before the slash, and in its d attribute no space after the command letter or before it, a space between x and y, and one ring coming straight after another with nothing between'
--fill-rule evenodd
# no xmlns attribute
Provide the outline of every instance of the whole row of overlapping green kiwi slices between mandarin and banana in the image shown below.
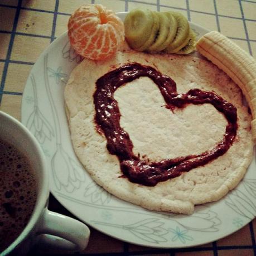
<svg viewBox="0 0 256 256"><path fill-rule="evenodd" d="M124 20L125 39L137 51L190 54L196 36L187 18L178 12L133 9Z"/></svg>

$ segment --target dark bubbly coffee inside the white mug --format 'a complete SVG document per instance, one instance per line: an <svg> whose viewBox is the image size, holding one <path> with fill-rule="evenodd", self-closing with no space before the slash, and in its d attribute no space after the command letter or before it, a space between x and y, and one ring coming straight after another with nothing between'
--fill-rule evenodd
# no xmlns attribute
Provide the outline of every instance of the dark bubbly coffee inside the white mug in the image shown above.
<svg viewBox="0 0 256 256"><path fill-rule="evenodd" d="M28 158L0 140L0 253L28 223L36 203L36 191Z"/></svg>

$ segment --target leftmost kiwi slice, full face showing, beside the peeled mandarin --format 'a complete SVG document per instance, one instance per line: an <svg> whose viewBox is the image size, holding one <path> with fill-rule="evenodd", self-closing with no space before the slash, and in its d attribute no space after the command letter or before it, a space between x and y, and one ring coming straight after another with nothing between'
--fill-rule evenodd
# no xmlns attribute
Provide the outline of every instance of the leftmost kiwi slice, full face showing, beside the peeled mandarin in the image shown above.
<svg viewBox="0 0 256 256"><path fill-rule="evenodd" d="M137 49L148 40L152 32L153 16L149 9L133 9L124 19L124 32L128 44Z"/></svg>

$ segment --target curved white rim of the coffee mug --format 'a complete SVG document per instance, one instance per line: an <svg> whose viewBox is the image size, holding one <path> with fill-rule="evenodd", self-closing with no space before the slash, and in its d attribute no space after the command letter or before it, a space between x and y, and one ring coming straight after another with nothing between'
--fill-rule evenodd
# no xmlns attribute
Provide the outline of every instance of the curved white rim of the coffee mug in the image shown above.
<svg viewBox="0 0 256 256"><path fill-rule="evenodd" d="M10 122L12 122L16 127L27 137L28 142L33 144L33 147L35 148L35 153L38 154L38 158L41 161L42 166L42 180L41 182L41 189L38 191L36 205L33 209L32 215L30 216L30 220L28 221L25 228L22 230L20 235L6 248L3 250L3 252L0 252L1 255L7 255L13 251L18 245L22 243L23 240L25 240L32 231L33 227L37 224L38 219L40 218L45 206L46 202L49 197L49 172L46 169L46 162L45 162L45 156L44 152L42 151L42 148L40 144L37 142L36 138L33 136L33 134L23 125L20 121L13 118L11 115L3 112L0 110L0 118L6 118Z"/></svg>

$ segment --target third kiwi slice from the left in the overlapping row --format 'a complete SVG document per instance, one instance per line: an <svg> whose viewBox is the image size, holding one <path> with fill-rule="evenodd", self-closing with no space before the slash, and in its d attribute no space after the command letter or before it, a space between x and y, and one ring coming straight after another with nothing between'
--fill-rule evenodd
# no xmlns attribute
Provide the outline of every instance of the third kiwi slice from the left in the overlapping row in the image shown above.
<svg viewBox="0 0 256 256"><path fill-rule="evenodd" d="M163 42L166 41L168 37L168 33L170 31L170 23L167 16L162 12L154 12L160 19L160 29L158 31L158 35L153 42L153 45L148 47L148 51L160 51L160 47Z"/></svg>

